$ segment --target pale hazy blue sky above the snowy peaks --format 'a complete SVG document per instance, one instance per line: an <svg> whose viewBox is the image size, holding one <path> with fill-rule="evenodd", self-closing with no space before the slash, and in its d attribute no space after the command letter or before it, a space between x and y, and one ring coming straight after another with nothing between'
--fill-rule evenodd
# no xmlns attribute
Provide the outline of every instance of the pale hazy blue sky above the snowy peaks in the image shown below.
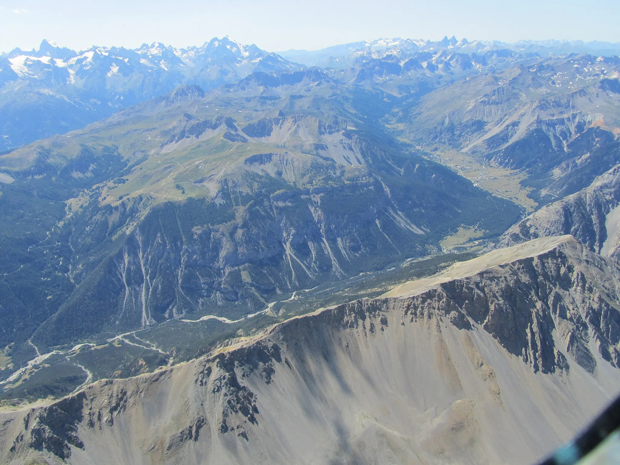
<svg viewBox="0 0 620 465"><path fill-rule="evenodd" d="M83 49L229 35L271 51L376 37L620 42L619 0L0 0L0 51L43 38Z"/></svg>

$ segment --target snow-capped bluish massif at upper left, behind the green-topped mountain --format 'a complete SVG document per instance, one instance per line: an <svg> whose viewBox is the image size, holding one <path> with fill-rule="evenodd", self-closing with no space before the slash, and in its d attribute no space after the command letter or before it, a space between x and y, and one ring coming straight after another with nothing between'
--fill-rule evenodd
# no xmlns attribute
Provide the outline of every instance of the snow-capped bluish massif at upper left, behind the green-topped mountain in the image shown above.
<svg viewBox="0 0 620 465"><path fill-rule="evenodd" d="M74 51L43 40L39 50L0 55L0 151L81 128L183 83L211 89L286 69L299 66L228 37L180 50L153 43Z"/></svg>

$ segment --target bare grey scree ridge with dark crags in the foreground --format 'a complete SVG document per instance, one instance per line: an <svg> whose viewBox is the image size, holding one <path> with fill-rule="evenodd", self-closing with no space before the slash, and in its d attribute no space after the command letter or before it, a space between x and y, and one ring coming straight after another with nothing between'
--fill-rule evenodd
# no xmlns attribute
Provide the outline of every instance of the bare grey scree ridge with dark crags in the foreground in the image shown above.
<svg viewBox="0 0 620 465"><path fill-rule="evenodd" d="M620 270L575 239L556 242L508 249L491 268L484 257L459 263L430 288L295 317L198 360L0 414L0 458L534 461L620 381ZM472 271L458 277L463 269Z"/></svg>

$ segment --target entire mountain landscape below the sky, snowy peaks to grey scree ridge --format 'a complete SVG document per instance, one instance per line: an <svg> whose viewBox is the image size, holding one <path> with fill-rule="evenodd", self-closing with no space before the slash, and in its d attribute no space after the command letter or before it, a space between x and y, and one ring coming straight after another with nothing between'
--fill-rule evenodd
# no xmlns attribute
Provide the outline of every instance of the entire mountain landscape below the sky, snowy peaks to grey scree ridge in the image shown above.
<svg viewBox="0 0 620 465"><path fill-rule="evenodd" d="M0 459L533 463L620 392L620 44L0 55Z"/></svg>

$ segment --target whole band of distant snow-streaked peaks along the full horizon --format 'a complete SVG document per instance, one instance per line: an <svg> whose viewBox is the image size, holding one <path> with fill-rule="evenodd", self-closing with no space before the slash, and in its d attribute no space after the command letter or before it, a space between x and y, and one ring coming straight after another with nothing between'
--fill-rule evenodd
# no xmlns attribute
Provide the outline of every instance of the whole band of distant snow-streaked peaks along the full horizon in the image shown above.
<svg viewBox="0 0 620 465"><path fill-rule="evenodd" d="M508 44L468 42L454 37L431 42L394 38L276 54L228 37L215 37L201 47L174 48L153 43L136 49L93 46L82 51L43 40L39 50L15 48L0 55L0 151L81 128L120 108L167 94L180 84L195 84L208 90L254 72L293 71L308 66L343 69L353 65L355 68L356 60L386 61L383 60L386 57L397 56L406 61L405 58L416 54L422 54L419 56L425 62L428 54L438 53L440 63L435 63L434 58L431 72L445 67L442 64L446 56L458 56L457 60L465 60L463 66L470 73L484 73L489 58L490 66L497 68L505 61L515 63L533 56L546 58L570 53L612 56L620 54L620 44L578 41ZM500 60L498 55L502 55ZM414 57L405 70L415 67L415 61L418 60ZM472 66L468 61L472 61ZM389 69L394 64L378 62L378 66ZM433 87L438 84L433 82Z"/></svg>

